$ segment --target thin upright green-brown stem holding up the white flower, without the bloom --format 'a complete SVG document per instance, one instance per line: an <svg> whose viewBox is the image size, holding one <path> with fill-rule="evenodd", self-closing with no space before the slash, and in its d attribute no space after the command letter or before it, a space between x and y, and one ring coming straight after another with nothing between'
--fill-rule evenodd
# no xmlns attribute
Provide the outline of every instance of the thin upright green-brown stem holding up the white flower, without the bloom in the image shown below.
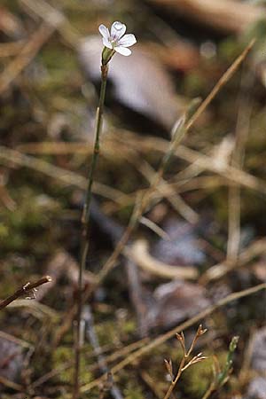
<svg viewBox="0 0 266 399"><path fill-rule="evenodd" d="M82 293L83 293L83 274L86 267L86 260L89 252L89 230L90 230L90 204L92 197L92 184L94 180L95 169L98 162L98 155L100 150L100 134L102 130L103 122L103 110L106 98L106 82L108 74L108 66L103 65L101 67L101 90L98 102L98 108L96 113L95 122L95 141L94 150L92 154L92 160L90 164L90 173L88 178L88 187L86 192L85 203L82 212L82 251L81 251L81 262L79 269L79 280L78 280L78 309L76 318L76 342L75 342L75 364L74 364L74 391L73 399L80 397L80 364L81 364L81 322L82 322Z"/></svg>

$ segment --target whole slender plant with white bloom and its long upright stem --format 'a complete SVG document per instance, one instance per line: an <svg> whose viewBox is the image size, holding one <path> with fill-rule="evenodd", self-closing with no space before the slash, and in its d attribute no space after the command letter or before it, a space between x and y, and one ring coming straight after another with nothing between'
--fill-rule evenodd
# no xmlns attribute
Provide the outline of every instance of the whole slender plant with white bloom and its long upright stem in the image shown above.
<svg viewBox="0 0 266 399"><path fill-rule="evenodd" d="M86 198L82 212L82 250L81 250L81 262L79 269L79 280L78 280L79 297L78 297L78 309L76 317L73 399L78 399L80 397L79 376L80 376L81 347L82 347L82 302L83 302L83 289L84 289L83 274L86 266L87 256L89 253L90 203L92 195L92 184L98 162L98 154L100 151L99 139L102 130L103 111L106 99L108 63L113 58L115 52L118 52L124 56L129 56L131 54L131 51L128 49L128 47L137 43L135 35L132 34L125 35L127 27L125 24L122 24L119 21L113 22L113 25L111 27L111 34L109 33L109 29L105 27L105 25L100 25L98 29L100 34L103 36L103 44L105 47L102 51L101 89L98 100L98 107L96 111L94 150L90 164L88 187L86 191Z"/></svg>

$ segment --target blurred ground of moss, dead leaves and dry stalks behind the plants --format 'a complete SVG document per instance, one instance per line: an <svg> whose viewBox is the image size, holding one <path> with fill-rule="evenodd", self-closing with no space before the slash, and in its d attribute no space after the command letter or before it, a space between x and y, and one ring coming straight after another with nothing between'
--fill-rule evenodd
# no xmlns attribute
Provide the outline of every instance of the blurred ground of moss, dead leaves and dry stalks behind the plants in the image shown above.
<svg viewBox="0 0 266 399"><path fill-rule="evenodd" d="M263 1L241 0L1 1L1 299L27 281L52 278L35 299L0 313L1 398L65 398L72 390L101 23L121 20L137 44L110 66L88 286L153 181L175 122L256 42L176 150L129 252L87 301L82 397L163 398L163 359L176 370L182 356L176 339L111 381L97 378L226 295L266 281L265 10ZM204 397L213 356L223 368L239 335L231 378L211 397L266 398L265 301L264 291L255 293L203 320L208 332L196 350L210 357L184 372L176 397ZM188 341L195 329L185 331Z"/></svg>

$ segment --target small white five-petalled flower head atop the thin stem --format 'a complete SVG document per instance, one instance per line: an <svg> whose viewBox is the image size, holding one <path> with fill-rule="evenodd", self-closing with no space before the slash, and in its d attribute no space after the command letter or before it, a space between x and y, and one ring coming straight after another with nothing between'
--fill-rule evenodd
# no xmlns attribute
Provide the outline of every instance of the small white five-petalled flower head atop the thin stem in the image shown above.
<svg viewBox="0 0 266 399"><path fill-rule="evenodd" d="M131 51L128 47L137 43L135 35L125 35L127 27L118 20L113 22L111 35L105 25L98 27L99 33L103 36L103 43L108 49L119 52L121 55L129 56Z"/></svg>

